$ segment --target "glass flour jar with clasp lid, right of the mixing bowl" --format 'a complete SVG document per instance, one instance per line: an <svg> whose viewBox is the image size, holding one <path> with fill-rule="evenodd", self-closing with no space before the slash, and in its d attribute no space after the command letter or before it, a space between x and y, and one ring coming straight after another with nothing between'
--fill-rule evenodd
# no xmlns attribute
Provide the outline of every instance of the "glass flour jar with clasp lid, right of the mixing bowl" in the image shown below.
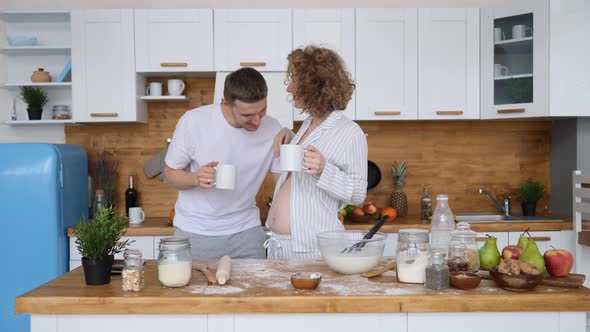
<svg viewBox="0 0 590 332"><path fill-rule="evenodd" d="M423 229L402 229L398 233L396 250L397 280L423 284L430 256L430 233Z"/></svg>

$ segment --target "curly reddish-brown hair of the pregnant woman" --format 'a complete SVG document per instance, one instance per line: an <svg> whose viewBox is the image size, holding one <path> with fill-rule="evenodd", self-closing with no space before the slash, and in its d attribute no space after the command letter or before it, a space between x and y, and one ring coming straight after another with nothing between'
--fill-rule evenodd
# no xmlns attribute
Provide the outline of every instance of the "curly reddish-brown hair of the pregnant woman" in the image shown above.
<svg viewBox="0 0 590 332"><path fill-rule="evenodd" d="M287 56L287 79L303 111L323 117L344 110L354 92L354 82L344 61L334 51L318 46L298 48Z"/></svg>

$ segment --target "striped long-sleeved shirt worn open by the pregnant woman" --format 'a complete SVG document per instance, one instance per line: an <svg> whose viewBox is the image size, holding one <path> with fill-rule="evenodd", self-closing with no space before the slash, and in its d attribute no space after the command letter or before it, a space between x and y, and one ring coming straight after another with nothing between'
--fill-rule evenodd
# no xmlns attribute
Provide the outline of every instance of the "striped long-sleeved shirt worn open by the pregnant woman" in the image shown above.
<svg viewBox="0 0 590 332"><path fill-rule="evenodd" d="M311 124L308 117L293 137L299 144ZM367 194L367 138L362 129L340 111L332 112L301 144L316 147L326 165L321 175L291 174L291 235L296 252L317 252L316 235L344 229L338 211L346 204L360 204ZM283 172L274 198L287 179Z"/></svg>

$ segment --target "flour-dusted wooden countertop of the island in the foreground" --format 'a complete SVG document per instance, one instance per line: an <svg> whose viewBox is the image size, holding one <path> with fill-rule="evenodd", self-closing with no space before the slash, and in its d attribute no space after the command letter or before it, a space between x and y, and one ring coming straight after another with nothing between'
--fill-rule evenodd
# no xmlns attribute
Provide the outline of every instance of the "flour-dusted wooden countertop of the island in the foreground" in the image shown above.
<svg viewBox="0 0 590 332"><path fill-rule="evenodd" d="M197 262L197 261L195 261ZM200 261L215 269L216 261ZM385 260L381 262L383 265ZM291 286L299 271L323 274L315 290ZM190 285L164 288L155 261L146 262L145 289L121 290L121 277L111 284L86 286L82 268L19 296L16 313L23 314L224 314L224 313L384 313L384 312L505 312L590 311L590 290L537 286L513 293L491 280L469 291L430 291L422 285L397 282L394 271L367 279L332 272L322 261L234 260L227 284L207 285L193 270Z"/></svg>

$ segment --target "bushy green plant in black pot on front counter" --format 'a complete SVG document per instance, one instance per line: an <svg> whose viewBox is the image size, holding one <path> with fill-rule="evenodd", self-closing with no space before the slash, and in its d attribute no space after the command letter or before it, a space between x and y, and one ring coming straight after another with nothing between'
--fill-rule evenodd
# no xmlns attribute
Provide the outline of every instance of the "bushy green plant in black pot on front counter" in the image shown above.
<svg viewBox="0 0 590 332"><path fill-rule="evenodd" d="M111 282L114 255L130 244L129 240L120 241L128 224L127 216L117 215L107 207L99 209L92 221L82 220L74 227L87 285Z"/></svg>

